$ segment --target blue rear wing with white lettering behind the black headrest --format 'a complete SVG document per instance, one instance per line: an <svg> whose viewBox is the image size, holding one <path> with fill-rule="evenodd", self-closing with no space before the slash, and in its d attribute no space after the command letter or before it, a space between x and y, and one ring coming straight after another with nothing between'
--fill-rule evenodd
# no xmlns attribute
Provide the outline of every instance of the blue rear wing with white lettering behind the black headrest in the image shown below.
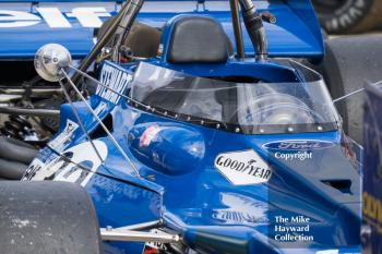
<svg viewBox="0 0 382 254"><path fill-rule="evenodd" d="M271 57L323 57L321 31L310 1L255 2L260 11L267 10L277 17L276 24L265 24ZM168 5L171 8L166 8ZM94 45L94 28L108 16L116 15L120 7L121 2L118 1L0 0L0 59L33 59L37 49L48 43L63 45L74 58L83 58ZM73 14L77 8L85 12L82 19ZM92 8L98 9L89 11ZM48 17L41 17L40 9L48 9L46 12L52 13L52 16L47 14ZM180 13L214 16L222 23L231 41L235 41L228 1L207 0L204 4L198 4L198 1L148 0L138 20L154 27L163 27L170 17ZM92 20L85 22L84 16ZM253 56L246 33L244 48L248 55Z"/></svg>

